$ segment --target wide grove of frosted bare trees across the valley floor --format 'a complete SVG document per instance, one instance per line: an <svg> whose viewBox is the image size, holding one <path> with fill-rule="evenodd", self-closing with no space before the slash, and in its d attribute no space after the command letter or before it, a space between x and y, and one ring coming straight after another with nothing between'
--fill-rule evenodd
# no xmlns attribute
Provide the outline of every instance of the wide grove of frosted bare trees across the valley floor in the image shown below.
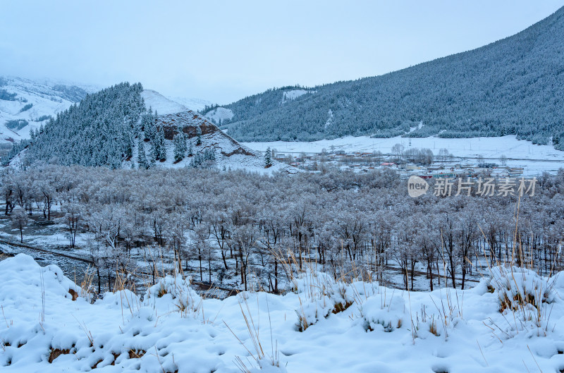
<svg viewBox="0 0 564 373"><path fill-rule="evenodd" d="M82 246L108 283L128 270L134 250L154 258L152 271L164 255L179 270L197 262L200 281L221 271L240 288L252 278L274 292L305 261L336 276L360 272L381 281L393 267L405 288L414 287L417 271L429 288L463 288L478 264L527 262L547 274L563 263L562 169L540 176L534 196L520 198L410 198L391 170L264 176L47 165L5 169L1 188L4 214L13 215L19 233L25 214L59 219L70 247L89 233L93 239Z"/></svg>

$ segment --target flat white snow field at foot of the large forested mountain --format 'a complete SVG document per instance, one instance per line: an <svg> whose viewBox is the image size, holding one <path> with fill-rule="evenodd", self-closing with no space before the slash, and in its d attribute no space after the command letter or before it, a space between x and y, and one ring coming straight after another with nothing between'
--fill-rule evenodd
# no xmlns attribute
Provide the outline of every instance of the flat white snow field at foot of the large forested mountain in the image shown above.
<svg viewBox="0 0 564 373"><path fill-rule="evenodd" d="M411 143L411 145L410 145ZM276 149L279 153L314 152L322 149L342 150L344 152L374 152L380 151L391 154L393 145L401 144L408 149L428 148L436 155L439 149L448 149L455 157L491 159L499 163L498 159L505 155L510 167L523 167L525 176L537 175L543 171L556 172L564 166L564 152L549 145L534 145L530 141L517 140L515 135L503 137L472 137L463 139L447 139L442 137L391 137L372 138L368 136L348 136L333 140L319 140L314 142L242 142L251 149L263 152L267 147Z"/></svg>

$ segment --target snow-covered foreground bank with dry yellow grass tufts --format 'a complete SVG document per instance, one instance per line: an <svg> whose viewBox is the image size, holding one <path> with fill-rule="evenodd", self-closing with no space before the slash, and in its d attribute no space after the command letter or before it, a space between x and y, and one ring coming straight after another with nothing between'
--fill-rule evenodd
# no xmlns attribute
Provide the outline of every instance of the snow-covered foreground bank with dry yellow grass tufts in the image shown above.
<svg viewBox="0 0 564 373"><path fill-rule="evenodd" d="M0 262L0 367L221 373L240 372L243 362L250 372L562 372L562 276L508 270L494 268L467 291L431 293L307 272L286 295L226 300L202 300L180 277L166 277L142 300L121 291L91 304L59 267L18 255Z"/></svg>

